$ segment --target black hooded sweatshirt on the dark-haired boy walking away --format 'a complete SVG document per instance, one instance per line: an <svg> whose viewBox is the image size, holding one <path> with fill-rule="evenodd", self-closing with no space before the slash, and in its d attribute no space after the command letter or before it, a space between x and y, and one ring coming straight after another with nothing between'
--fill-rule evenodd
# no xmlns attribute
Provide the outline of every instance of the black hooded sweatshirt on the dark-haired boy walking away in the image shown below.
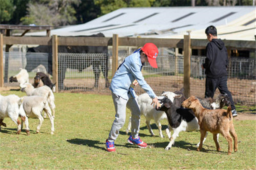
<svg viewBox="0 0 256 170"><path fill-rule="evenodd" d="M227 48L221 39L212 39L206 46L205 74L210 78L227 76Z"/></svg>

